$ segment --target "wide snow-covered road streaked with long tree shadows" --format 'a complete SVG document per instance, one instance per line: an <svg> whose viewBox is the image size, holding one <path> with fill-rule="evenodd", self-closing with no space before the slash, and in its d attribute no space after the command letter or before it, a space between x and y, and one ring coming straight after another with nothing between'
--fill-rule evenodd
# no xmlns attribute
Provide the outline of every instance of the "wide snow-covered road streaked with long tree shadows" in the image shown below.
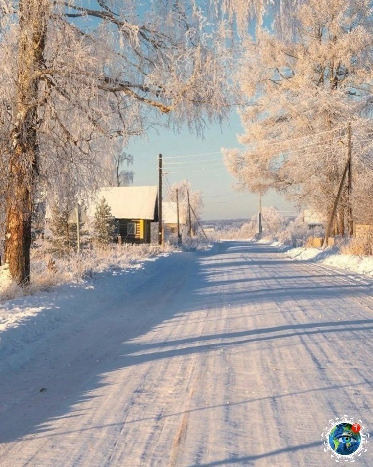
<svg viewBox="0 0 373 467"><path fill-rule="evenodd" d="M373 426L370 286L250 242L119 279L1 374L1 467L332 466L330 418Z"/></svg>

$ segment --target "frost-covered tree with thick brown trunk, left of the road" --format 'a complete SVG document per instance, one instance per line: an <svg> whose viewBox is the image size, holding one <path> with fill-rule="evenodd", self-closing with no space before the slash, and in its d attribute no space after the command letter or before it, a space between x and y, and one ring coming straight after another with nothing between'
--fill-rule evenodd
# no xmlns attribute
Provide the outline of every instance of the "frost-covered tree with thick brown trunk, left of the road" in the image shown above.
<svg viewBox="0 0 373 467"><path fill-rule="evenodd" d="M39 184L52 192L69 174L91 186L115 138L141 134L152 110L197 133L227 115L231 33L220 3L0 0L5 255L16 281L29 280Z"/></svg>

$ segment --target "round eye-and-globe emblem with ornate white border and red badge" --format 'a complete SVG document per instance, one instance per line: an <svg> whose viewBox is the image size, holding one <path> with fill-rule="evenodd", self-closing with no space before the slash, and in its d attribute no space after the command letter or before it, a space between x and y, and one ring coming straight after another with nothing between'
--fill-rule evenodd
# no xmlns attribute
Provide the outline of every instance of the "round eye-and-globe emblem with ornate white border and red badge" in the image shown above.
<svg viewBox="0 0 373 467"><path fill-rule="evenodd" d="M369 433L361 420L344 415L329 420L321 435L324 450L335 461L355 461L367 450Z"/></svg>

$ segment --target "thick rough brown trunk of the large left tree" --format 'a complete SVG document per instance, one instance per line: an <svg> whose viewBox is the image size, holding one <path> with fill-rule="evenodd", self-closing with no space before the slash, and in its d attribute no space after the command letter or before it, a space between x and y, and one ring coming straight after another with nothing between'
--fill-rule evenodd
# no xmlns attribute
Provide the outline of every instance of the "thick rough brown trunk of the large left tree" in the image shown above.
<svg viewBox="0 0 373 467"><path fill-rule="evenodd" d="M31 217L38 174L36 118L49 15L49 0L20 0L17 86L10 135L10 190L7 197L5 261L19 284L30 280Z"/></svg>

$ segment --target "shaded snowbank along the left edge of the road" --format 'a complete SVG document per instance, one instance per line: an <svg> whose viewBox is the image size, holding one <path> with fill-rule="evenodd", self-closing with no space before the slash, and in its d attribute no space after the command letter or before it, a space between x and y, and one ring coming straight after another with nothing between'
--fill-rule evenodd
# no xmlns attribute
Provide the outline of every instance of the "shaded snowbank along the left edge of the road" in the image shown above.
<svg viewBox="0 0 373 467"><path fill-rule="evenodd" d="M7 265L2 266L0 296L1 288L9 293L10 287L16 298L0 302L0 375L23 366L30 358L30 348L42 347L52 330L59 328L61 334L78 332L87 320L122 304L130 291L145 284L161 267L154 263L163 263L169 255L160 253L126 268L103 270L79 283L28 296L22 296L24 291L11 280Z"/></svg>

